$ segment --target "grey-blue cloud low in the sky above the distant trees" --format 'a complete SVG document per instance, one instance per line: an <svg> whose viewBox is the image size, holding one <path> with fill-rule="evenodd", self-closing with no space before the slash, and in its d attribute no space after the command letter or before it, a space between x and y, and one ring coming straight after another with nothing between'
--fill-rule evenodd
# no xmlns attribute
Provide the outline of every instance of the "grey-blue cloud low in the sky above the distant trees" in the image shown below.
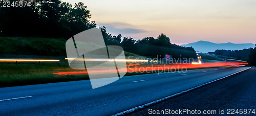
<svg viewBox="0 0 256 116"><path fill-rule="evenodd" d="M108 24L98 24L98 26L105 26L108 33L114 34L138 34L147 32L144 29L139 29L136 26L124 22L111 22Z"/></svg>

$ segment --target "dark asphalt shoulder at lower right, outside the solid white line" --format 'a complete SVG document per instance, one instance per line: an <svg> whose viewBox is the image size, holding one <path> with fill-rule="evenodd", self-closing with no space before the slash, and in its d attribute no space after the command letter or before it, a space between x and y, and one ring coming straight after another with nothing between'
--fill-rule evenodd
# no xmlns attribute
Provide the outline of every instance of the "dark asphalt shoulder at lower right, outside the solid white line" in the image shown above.
<svg viewBox="0 0 256 116"><path fill-rule="evenodd" d="M225 109L225 114L228 113L228 109L247 109L247 112L243 112L243 114L240 114L240 112L237 114L235 110L233 112L234 114L231 115L256 115L256 67L151 107L144 108L130 115L148 115L149 113L153 113L151 109L155 111L165 109L197 109L202 111L202 113L203 110L216 110L217 115L220 115L220 109ZM248 109L254 109L255 113L253 114L251 110L251 113L248 114ZM189 114L185 112L182 115Z"/></svg>

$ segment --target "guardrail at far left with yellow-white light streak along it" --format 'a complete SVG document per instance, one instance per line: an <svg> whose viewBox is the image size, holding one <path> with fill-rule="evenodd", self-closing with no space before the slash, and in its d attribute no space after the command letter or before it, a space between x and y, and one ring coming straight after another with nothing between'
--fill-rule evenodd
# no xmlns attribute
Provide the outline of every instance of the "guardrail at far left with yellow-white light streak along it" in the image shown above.
<svg viewBox="0 0 256 116"><path fill-rule="evenodd" d="M53 59L0 59L0 62L16 62L16 65L18 62L38 62L40 65L40 62L57 62L59 64L59 60L53 60Z"/></svg>

